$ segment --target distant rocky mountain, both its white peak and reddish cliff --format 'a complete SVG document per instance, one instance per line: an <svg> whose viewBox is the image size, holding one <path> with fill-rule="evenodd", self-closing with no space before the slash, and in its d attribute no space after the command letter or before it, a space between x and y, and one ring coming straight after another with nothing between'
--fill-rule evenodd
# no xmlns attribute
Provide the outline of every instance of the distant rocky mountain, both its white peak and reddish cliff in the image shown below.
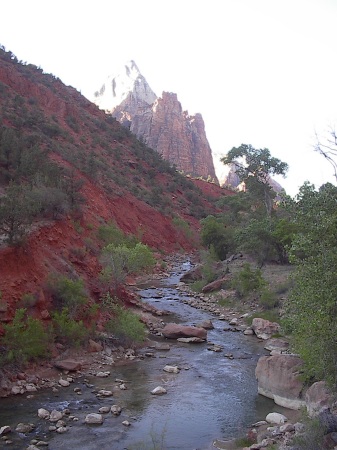
<svg viewBox="0 0 337 450"><path fill-rule="evenodd" d="M93 100L178 170L217 182L201 114L183 111L176 94L157 98L134 61L108 77Z"/></svg>

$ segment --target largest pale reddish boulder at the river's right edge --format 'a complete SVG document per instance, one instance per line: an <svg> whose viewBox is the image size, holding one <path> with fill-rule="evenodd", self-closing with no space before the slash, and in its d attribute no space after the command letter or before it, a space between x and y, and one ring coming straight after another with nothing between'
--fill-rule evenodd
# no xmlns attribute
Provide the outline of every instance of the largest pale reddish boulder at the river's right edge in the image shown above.
<svg viewBox="0 0 337 450"><path fill-rule="evenodd" d="M294 355L262 356L255 369L258 392L289 409L305 406L299 372L303 361Z"/></svg>

